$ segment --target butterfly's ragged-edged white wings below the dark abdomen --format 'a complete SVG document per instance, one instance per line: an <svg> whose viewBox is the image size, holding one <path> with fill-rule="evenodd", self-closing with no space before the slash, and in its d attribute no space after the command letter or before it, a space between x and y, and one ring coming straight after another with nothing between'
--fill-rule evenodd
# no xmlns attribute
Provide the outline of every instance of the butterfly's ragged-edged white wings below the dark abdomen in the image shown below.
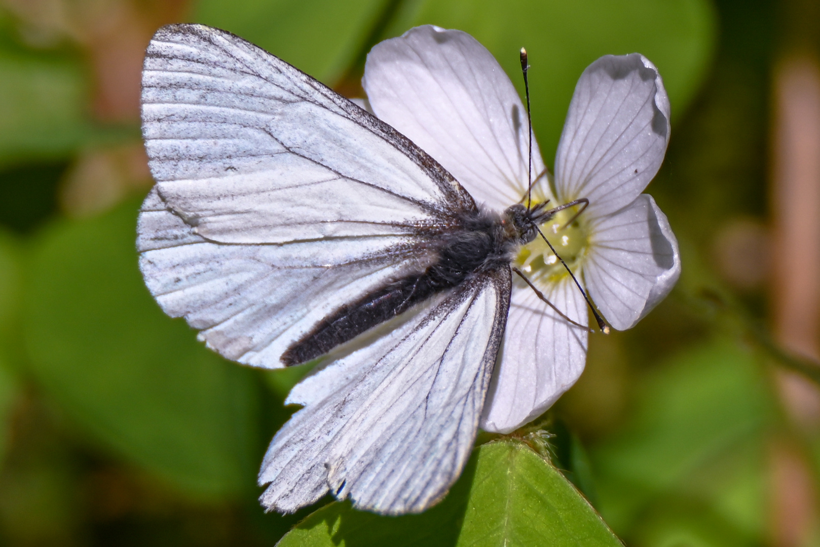
<svg viewBox="0 0 820 547"><path fill-rule="evenodd" d="M268 449L262 503L293 512L332 490L399 514L441 499L475 440L509 294L508 269L476 276L294 388L305 408Z"/></svg>

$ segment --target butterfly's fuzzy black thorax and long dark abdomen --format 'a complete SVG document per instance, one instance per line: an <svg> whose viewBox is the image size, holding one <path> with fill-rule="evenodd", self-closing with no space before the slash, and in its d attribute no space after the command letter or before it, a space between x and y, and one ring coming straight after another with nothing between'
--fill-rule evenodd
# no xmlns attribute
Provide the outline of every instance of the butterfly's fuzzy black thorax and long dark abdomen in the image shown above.
<svg viewBox="0 0 820 547"><path fill-rule="evenodd" d="M292 366L321 357L471 276L509 267L512 242L505 236L498 215L472 210L460 220L458 229L442 236L437 257L425 271L394 280L330 313L291 345L281 362Z"/></svg>

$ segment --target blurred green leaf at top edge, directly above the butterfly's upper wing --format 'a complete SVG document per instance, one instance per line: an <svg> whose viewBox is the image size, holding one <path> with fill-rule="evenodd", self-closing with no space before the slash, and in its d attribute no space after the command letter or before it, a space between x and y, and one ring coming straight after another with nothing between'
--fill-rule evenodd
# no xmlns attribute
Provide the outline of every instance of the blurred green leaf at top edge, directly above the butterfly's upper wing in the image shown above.
<svg viewBox="0 0 820 547"><path fill-rule="evenodd" d="M194 20L230 30L333 84L367 45L389 0L200 0Z"/></svg>

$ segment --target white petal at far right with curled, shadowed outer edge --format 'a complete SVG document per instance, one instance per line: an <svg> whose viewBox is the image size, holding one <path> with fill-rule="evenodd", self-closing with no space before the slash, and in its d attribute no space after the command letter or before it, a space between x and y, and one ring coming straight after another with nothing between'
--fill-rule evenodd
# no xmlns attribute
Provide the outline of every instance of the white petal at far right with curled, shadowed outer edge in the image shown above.
<svg viewBox="0 0 820 547"><path fill-rule="evenodd" d="M649 194L591 227L584 280L590 296L617 330L640 321L681 275L681 256L666 215Z"/></svg>

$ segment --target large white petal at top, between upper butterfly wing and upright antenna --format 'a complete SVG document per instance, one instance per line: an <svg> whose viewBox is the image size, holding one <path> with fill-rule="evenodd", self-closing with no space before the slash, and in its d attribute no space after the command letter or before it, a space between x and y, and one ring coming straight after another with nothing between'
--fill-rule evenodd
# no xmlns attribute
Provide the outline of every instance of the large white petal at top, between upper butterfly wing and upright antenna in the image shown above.
<svg viewBox="0 0 820 547"><path fill-rule="evenodd" d="M367 55L373 112L440 162L479 203L503 211L526 192L526 109L470 34L425 25ZM532 142L532 176L544 170ZM544 185L545 186L545 185Z"/></svg>

